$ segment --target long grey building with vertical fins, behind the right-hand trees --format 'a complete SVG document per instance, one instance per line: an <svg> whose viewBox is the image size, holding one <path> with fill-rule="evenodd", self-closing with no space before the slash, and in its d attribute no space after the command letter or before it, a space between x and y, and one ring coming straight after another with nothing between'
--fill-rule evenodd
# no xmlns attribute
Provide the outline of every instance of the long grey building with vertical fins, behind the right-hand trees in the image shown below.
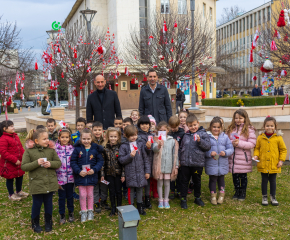
<svg viewBox="0 0 290 240"><path fill-rule="evenodd" d="M243 69L237 76L232 76L238 79L234 87L235 90L240 92L252 90L254 85L252 78L254 76L257 76L256 83L261 86L262 72L255 67L258 57L254 53L254 63L250 63L249 54L256 30L261 30L262 26L271 21L273 6L273 1L267 2L255 9L240 14L238 17L216 28L217 45L224 51L235 51L231 64Z"/></svg>

